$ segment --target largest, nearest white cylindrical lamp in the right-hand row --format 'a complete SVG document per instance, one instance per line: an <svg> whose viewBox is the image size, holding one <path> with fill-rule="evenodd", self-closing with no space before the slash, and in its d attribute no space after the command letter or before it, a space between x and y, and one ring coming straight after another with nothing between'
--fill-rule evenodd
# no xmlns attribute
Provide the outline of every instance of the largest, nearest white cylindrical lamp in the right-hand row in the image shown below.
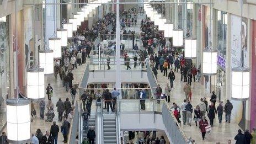
<svg viewBox="0 0 256 144"><path fill-rule="evenodd" d="M233 99L248 99L250 90L250 71L247 68L232 68Z"/></svg>

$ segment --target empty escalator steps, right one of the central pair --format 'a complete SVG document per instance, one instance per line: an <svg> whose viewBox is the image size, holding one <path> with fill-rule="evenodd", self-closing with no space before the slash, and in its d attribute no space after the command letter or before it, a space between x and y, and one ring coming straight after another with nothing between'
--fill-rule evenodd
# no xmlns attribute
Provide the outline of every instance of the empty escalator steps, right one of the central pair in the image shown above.
<svg viewBox="0 0 256 144"><path fill-rule="evenodd" d="M104 143L116 143L115 114L103 115L103 138Z"/></svg>

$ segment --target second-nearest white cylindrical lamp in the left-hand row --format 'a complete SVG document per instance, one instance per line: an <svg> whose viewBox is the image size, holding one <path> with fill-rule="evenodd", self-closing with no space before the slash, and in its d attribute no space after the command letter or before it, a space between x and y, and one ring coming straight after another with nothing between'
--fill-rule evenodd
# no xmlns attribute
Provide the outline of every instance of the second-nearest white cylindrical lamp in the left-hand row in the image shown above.
<svg viewBox="0 0 256 144"><path fill-rule="evenodd" d="M29 99L45 98L44 68L28 68L26 70L26 96Z"/></svg>

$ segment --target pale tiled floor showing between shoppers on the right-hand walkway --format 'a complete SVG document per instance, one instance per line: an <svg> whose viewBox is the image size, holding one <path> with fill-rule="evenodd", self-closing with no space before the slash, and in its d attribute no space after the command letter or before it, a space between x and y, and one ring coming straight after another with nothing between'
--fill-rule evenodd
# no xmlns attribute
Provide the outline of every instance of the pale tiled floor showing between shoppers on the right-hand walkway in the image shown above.
<svg viewBox="0 0 256 144"><path fill-rule="evenodd" d="M166 86L166 83L169 83L169 79L166 76L163 76L163 73L161 73L161 71L158 71L158 83L161 84L161 87L163 89ZM173 102L177 103L178 105L183 103L183 99L185 97L185 94L183 92L184 84L184 82L180 82L180 73L175 72L174 89L171 91L170 105ZM206 97L208 101L210 100L211 94L206 93L204 86L202 86L199 82L192 82L191 90L191 104L193 105L193 108L195 108L195 106L200 102L200 98ZM182 118L180 120L182 120ZM225 113L222 116L222 124L218 124L218 119L216 116L216 118L214 119L214 126L212 127L212 131L210 134L206 134L205 141L202 141L200 129L199 127L195 126L194 121L191 123L191 126L182 124L182 128L185 132L185 135L187 137L194 138L196 140L196 143L227 143L229 139L232 140L232 143L234 143L234 136L236 136L237 130L240 129L239 126L233 121L230 124L225 123Z"/></svg>

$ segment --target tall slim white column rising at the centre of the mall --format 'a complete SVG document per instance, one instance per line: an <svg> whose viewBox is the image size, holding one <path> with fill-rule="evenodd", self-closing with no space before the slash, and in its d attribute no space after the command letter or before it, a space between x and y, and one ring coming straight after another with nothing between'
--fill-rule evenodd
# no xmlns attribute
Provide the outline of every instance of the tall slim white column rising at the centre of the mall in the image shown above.
<svg viewBox="0 0 256 144"><path fill-rule="evenodd" d="M120 69L120 15L119 15L119 0L116 1L116 51L115 51L115 60L116 60L116 79L115 79L115 87L119 89L121 93L121 69ZM119 95L119 99L121 99L121 94Z"/></svg>

